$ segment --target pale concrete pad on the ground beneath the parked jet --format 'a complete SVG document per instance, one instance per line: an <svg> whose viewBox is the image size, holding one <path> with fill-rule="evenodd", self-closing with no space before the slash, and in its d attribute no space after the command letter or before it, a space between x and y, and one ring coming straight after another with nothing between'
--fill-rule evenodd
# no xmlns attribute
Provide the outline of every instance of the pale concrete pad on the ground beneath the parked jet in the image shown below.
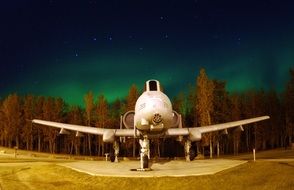
<svg viewBox="0 0 294 190"><path fill-rule="evenodd" d="M58 164L73 170L87 173L93 176L112 177L184 177L212 175L217 172L244 164L247 161L212 159L186 161L167 161L153 163L151 171L131 171L139 168L140 161L120 161L111 163L106 161L77 161Z"/></svg>

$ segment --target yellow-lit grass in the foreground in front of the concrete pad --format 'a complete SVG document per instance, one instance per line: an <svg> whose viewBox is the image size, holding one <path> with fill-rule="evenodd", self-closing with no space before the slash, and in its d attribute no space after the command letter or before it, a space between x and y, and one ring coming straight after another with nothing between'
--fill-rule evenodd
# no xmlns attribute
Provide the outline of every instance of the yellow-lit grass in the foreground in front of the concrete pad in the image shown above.
<svg viewBox="0 0 294 190"><path fill-rule="evenodd" d="M54 163L0 166L6 189L294 189L294 162L249 162L198 177L94 177Z"/></svg>

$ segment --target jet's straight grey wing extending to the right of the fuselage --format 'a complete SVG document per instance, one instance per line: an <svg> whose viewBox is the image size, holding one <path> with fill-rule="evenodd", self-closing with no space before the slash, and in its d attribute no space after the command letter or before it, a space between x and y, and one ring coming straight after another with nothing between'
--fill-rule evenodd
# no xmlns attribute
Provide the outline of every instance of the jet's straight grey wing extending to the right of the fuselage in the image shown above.
<svg viewBox="0 0 294 190"><path fill-rule="evenodd" d="M250 119L244 119L239 121L233 121L228 123L221 123L216 125L207 125L202 127L192 127L192 128L170 128L166 131L167 136L187 136L189 135L192 141L200 140L203 133L210 133L214 131L226 130L233 127L242 127L249 123L255 123L258 121L269 119L269 116L255 117Z"/></svg>

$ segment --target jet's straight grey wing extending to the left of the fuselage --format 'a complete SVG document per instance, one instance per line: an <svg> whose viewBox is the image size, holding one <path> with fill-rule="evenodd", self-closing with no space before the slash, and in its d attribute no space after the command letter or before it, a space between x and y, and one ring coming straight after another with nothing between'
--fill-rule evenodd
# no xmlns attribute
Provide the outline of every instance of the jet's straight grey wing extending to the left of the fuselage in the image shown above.
<svg viewBox="0 0 294 190"><path fill-rule="evenodd" d="M63 130L88 133L93 135L102 135L104 142L113 142L114 137L126 137L126 136L134 136L134 129L105 129L105 128L97 128L97 127L88 127L82 125L74 125L74 124L66 124L66 123L58 123L53 121L45 121L34 119L32 123L55 127Z"/></svg>

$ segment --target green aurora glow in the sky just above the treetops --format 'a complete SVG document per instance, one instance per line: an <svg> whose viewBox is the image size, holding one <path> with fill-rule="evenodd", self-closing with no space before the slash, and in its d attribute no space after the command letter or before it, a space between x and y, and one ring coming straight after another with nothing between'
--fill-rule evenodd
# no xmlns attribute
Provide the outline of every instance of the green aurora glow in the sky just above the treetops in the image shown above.
<svg viewBox="0 0 294 190"><path fill-rule="evenodd" d="M79 57L39 59L38 64L22 73L10 92L62 97L69 104L83 105L83 97L92 91L96 97L104 94L109 102L124 98L132 84L142 90L149 79L157 79L171 98L195 84L199 69L204 67L211 79L227 81L229 91L275 87L282 90L293 66L291 49L276 53L269 65L259 52L239 55L230 53L172 56L171 52L153 51L142 54L114 52L94 53ZM187 56L185 56L187 55Z"/></svg>

